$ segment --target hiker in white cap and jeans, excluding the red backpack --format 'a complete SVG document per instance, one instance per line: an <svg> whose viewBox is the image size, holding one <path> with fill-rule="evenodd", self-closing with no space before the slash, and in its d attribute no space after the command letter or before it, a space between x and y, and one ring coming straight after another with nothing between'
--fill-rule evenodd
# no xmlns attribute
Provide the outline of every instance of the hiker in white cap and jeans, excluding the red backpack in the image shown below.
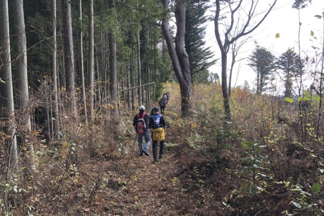
<svg viewBox="0 0 324 216"><path fill-rule="evenodd" d="M133 120L133 126L135 127L136 132L138 132L137 130L137 124L138 124L138 119L144 119L145 122L145 133L144 134L139 134L138 133L138 148L140 150L140 156L143 156L144 154L146 156L148 155L148 148L150 147L150 141L151 141L151 137L150 137L150 128L148 127L149 125L149 119L150 116L145 113L145 106L141 105L140 106L140 112L139 114L135 115L134 120ZM143 136L145 137L145 147L143 148Z"/></svg>

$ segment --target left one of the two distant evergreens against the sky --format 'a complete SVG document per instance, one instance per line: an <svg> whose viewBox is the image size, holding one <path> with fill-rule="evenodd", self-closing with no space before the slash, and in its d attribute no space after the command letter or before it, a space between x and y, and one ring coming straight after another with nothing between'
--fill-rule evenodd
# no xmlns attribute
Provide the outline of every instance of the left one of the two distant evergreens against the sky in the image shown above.
<svg viewBox="0 0 324 216"><path fill-rule="evenodd" d="M273 74L274 55L263 47L257 47L250 56L249 66L257 74L257 94L262 94L267 90L269 76Z"/></svg>

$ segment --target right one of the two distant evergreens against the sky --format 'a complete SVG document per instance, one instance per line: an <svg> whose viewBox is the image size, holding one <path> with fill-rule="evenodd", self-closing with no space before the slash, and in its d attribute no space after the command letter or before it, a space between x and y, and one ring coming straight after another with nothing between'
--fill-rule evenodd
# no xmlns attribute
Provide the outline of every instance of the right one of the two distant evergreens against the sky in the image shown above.
<svg viewBox="0 0 324 216"><path fill-rule="evenodd" d="M290 97L293 91L293 81L295 78L296 82L298 77L300 77L300 67L304 67L304 61L301 61L300 65L299 55L291 48L289 48L285 53L279 56L276 61L276 67L282 70L285 79L285 97Z"/></svg>

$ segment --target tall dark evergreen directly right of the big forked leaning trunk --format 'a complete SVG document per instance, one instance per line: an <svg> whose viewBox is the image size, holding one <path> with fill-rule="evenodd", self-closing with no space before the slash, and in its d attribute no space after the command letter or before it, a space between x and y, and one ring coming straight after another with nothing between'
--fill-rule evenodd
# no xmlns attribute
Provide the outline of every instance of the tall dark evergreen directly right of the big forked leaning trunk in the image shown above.
<svg viewBox="0 0 324 216"><path fill-rule="evenodd" d="M215 63L210 47L204 41L208 17L205 15L209 6L208 0L190 0L186 7L185 48L189 56L191 82L206 83L209 78L208 68Z"/></svg>

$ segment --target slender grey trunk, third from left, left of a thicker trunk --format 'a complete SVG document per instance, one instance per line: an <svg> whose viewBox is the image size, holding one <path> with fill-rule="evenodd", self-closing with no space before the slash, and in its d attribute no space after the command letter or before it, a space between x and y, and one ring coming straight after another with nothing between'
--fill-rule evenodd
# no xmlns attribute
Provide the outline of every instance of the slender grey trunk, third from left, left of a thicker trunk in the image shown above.
<svg viewBox="0 0 324 216"><path fill-rule="evenodd" d="M52 37L53 37L53 52L52 52L52 89L53 89L53 110L54 110L54 133L53 138L58 140L60 138L59 130L59 109L58 109L58 91L57 91L57 67L56 67L56 55L57 55L57 42L56 42L56 0L52 0Z"/></svg>

